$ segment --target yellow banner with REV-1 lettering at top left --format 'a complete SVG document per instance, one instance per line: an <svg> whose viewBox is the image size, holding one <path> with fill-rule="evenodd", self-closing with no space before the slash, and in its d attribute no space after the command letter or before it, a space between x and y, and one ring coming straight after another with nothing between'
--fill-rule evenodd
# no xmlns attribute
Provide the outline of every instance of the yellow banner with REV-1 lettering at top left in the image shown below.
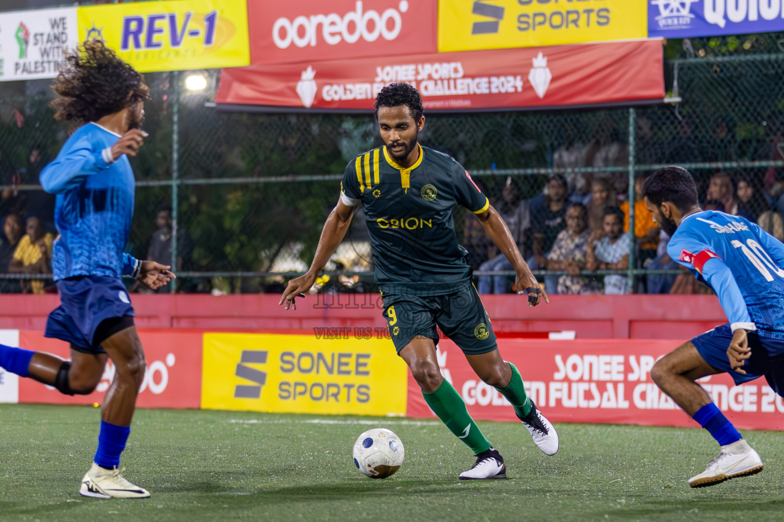
<svg viewBox="0 0 784 522"><path fill-rule="evenodd" d="M105 41L140 72L250 63L245 0L93 5L77 18L80 41Z"/></svg>

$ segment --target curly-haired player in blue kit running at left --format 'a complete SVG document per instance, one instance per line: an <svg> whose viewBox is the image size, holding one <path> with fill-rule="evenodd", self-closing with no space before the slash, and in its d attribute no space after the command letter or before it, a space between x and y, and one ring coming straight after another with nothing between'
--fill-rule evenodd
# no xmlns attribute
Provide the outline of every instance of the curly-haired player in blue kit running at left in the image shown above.
<svg viewBox="0 0 784 522"><path fill-rule="evenodd" d="M140 127L149 89L141 74L98 41L67 57L53 90L59 95L56 118L76 130L41 173L43 188L57 195L60 232L52 264L61 304L49 315L45 336L70 343L71 358L0 345L0 366L64 394L89 394L111 358L116 373L103 402L98 449L79 493L142 499L150 493L118 469L146 370L121 278L157 289L174 277L169 266L123 253L135 190L128 157L147 136Z"/></svg>

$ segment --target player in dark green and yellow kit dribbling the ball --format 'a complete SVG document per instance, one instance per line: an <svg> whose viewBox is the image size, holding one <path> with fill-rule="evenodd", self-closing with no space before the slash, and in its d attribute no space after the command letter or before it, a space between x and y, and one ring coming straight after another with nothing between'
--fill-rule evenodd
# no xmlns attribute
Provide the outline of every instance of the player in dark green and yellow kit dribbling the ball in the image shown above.
<svg viewBox="0 0 784 522"><path fill-rule="evenodd" d="M471 419L466 404L441 376L436 358L437 328L463 350L481 380L514 406L517 417L547 455L558 450L558 435L525 394L517 368L501 357L495 333L471 283L467 254L457 243L452 208L476 214L488 236L517 272L519 294L528 305L547 299L498 212L452 157L419 145L425 124L422 98L412 85L387 85L376 97L376 117L384 146L351 161L343 175L340 200L321 232L307 274L289 281L281 304L310 290L329 257L343 241L354 208L362 205L368 224L383 316L398 355L405 360L436 415L477 457L461 479L506 477L503 457ZM296 308L294 306L293 308Z"/></svg>

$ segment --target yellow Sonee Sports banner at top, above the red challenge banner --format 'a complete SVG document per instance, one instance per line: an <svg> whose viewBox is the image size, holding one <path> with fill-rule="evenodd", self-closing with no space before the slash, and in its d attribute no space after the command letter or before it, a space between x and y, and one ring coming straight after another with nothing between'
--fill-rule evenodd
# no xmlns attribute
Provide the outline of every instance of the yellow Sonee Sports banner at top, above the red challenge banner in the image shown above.
<svg viewBox="0 0 784 522"><path fill-rule="evenodd" d="M539 47L648 36L641 0L438 2L438 50Z"/></svg>

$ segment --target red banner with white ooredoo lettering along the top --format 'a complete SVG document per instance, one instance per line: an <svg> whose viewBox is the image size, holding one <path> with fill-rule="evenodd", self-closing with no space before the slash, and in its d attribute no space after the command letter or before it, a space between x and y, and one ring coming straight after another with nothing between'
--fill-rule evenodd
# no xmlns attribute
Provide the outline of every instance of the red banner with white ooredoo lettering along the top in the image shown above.
<svg viewBox="0 0 784 522"><path fill-rule="evenodd" d="M252 64L436 52L437 0L248 0Z"/></svg>

